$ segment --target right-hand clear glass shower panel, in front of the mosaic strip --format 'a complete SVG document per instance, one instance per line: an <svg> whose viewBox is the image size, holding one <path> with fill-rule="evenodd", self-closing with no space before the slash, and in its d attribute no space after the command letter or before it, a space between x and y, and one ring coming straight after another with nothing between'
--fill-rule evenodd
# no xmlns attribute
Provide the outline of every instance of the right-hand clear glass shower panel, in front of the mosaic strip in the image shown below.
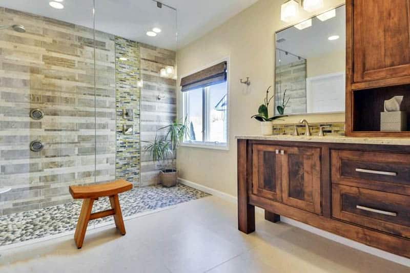
<svg viewBox="0 0 410 273"><path fill-rule="evenodd" d="M141 140L176 118L176 19L175 9L151 0L96 2L97 181L158 180Z"/></svg>

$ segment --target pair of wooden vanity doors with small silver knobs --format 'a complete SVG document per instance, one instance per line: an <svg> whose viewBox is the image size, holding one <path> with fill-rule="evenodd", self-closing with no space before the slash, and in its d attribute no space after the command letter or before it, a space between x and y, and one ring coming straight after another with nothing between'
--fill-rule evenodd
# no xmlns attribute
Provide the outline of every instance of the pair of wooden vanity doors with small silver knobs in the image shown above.
<svg viewBox="0 0 410 273"><path fill-rule="evenodd" d="M321 213L319 148L255 144L252 150L253 194Z"/></svg>

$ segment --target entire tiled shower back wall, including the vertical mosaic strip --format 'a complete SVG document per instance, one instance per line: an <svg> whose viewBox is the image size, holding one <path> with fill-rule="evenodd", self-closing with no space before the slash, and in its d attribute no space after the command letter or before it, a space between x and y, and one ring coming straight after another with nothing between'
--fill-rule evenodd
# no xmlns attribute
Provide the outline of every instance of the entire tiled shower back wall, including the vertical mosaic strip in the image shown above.
<svg viewBox="0 0 410 273"><path fill-rule="evenodd" d="M152 140L176 118L176 81L159 77L175 66L174 51L96 32L94 78L92 29L5 8L0 24L27 30L0 31L0 188L12 188L0 195L0 216L71 201L71 184L126 178L138 186L140 169L141 185L158 181L139 134ZM34 108L45 117L31 119ZM124 136L122 124L134 134ZM42 152L29 149L36 139Z"/></svg>

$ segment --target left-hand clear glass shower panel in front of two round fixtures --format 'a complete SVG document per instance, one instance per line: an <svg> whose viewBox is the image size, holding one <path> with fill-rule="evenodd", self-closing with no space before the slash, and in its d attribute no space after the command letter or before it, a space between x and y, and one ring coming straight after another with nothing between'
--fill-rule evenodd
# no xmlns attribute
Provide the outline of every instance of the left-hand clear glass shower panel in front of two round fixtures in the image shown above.
<svg viewBox="0 0 410 273"><path fill-rule="evenodd" d="M0 215L95 181L93 1L0 3Z"/></svg>

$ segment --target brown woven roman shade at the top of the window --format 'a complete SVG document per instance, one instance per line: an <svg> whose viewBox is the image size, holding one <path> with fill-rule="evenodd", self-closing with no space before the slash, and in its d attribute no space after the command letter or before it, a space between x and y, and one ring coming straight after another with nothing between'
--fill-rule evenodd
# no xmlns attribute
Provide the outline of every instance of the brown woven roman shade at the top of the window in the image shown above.
<svg viewBox="0 0 410 273"><path fill-rule="evenodd" d="M227 81L227 62L201 70L181 79L181 92L216 85Z"/></svg>

